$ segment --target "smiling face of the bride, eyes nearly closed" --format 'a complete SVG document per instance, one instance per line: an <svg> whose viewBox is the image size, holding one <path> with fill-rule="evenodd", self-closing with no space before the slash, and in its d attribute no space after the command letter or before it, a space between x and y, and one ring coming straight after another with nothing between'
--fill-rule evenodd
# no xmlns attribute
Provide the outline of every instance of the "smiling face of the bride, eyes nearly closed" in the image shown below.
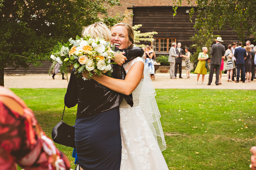
<svg viewBox="0 0 256 170"><path fill-rule="evenodd" d="M129 35L127 29L123 25L117 25L111 30L111 43L119 49L128 48L131 43L129 42Z"/></svg>

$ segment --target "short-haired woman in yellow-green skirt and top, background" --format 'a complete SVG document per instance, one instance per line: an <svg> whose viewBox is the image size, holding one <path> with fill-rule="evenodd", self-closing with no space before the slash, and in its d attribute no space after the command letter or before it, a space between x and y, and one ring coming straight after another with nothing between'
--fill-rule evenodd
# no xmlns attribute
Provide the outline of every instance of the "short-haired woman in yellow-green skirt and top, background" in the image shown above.
<svg viewBox="0 0 256 170"><path fill-rule="evenodd" d="M199 76L202 75L202 84L204 84L204 79L205 79L205 75L207 74L207 68L206 68L206 60L209 58L208 54L206 54L208 52L207 47L203 47L202 48L203 52L200 52L198 55L198 63L197 63L197 67L195 68L194 73L197 73L197 83L198 84L198 80L199 80Z"/></svg>

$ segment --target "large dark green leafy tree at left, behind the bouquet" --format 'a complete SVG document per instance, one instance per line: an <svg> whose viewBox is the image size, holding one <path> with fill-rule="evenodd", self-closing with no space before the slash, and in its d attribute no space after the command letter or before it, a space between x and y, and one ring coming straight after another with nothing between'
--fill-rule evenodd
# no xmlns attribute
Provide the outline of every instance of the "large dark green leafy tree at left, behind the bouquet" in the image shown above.
<svg viewBox="0 0 256 170"><path fill-rule="evenodd" d="M123 20L125 15L107 16L107 7L115 5L119 0L0 0L0 85L5 67L39 66L53 44L75 38L84 26Z"/></svg>

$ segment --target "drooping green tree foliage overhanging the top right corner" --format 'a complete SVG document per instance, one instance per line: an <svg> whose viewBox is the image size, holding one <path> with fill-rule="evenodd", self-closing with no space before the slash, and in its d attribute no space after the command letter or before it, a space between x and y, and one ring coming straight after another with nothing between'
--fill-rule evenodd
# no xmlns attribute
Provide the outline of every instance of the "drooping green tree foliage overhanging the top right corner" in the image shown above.
<svg viewBox="0 0 256 170"><path fill-rule="evenodd" d="M173 0L178 6L182 1ZM186 1L191 4L191 0ZM244 41L246 32L249 36L256 38L256 0L195 0L195 3L197 7L190 9L190 17L197 14L194 27L199 30L199 35L205 30L212 34L213 31L230 27L241 41ZM173 9L175 16L177 6Z"/></svg>

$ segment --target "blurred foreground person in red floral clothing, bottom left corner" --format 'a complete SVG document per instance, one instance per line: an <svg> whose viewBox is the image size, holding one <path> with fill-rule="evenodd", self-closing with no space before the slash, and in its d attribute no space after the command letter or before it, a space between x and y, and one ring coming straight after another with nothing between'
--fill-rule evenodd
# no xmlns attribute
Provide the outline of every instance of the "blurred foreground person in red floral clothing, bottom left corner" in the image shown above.
<svg viewBox="0 0 256 170"><path fill-rule="evenodd" d="M38 124L34 113L11 90L0 86L0 169L70 169Z"/></svg>

